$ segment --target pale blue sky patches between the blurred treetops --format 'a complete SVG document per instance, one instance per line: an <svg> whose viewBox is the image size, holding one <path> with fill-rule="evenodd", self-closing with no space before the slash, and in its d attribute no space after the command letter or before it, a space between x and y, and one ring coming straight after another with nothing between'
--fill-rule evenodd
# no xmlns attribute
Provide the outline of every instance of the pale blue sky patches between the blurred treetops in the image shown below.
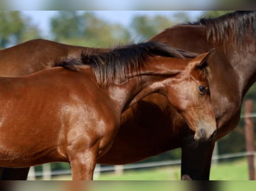
<svg viewBox="0 0 256 191"><path fill-rule="evenodd" d="M134 15L137 14L146 14L146 15L165 15L167 17L171 17L177 11L95 11L96 14L104 18L107 21L121 23L124 26L129 26L131 19ZM197 17L202 15L202 11L187 11L189 16L196 20ZM37 25L43 35L49 34L49 20L52 16L54 16L57 11L22 11L24 15L31 17L32 22Z"/></svg>

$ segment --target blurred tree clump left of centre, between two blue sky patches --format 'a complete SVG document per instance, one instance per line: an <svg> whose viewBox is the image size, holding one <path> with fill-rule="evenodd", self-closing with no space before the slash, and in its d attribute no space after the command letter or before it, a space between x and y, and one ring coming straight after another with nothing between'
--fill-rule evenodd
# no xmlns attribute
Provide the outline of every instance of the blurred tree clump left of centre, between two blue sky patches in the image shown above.
<svg viewBox="0 0 256 191"><path fill-rule="evenodd" d="M81 46L108 47L130 40L129 31L120 24L112 24L94 12L59 11L51 19L55 40Z"/></svg>

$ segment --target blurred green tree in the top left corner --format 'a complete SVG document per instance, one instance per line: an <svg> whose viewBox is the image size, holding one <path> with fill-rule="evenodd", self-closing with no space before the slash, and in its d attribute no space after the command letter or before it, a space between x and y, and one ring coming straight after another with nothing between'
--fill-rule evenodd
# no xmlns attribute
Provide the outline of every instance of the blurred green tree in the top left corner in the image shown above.
<svg viewBox="0 0 256 191"><path fill-rule="evenodd" d="M20 11L0 11L0 48L39 37L39 30Z"/></svg>

